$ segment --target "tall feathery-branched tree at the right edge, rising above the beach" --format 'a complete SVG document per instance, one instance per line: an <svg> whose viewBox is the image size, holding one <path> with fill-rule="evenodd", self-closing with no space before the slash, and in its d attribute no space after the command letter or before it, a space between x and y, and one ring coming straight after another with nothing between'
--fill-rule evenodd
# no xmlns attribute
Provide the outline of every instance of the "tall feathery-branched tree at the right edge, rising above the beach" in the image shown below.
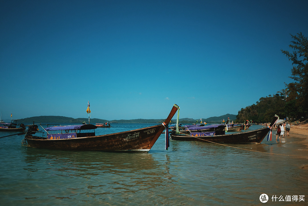
<svg viewBox="0 0 308 206"><path fill-rule="evenodd" d="M293 98L296 98L298 105L303 109L307 117L308 112L308 40L307 37L298 33L297 36L291 35L293 41L289 47L293 50L289 51L281 50L284 55L292 61L293 68L291 79L295 82L287 85L287 91ZM298 96L296 95L298 94Z"/></svg>

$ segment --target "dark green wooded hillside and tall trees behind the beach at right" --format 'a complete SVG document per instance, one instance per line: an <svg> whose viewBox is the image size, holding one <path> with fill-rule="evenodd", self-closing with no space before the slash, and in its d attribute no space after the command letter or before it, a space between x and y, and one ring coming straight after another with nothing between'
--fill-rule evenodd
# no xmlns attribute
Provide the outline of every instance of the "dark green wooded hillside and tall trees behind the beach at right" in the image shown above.
<svg viewBox="0 0 308 206"><path fill-rule="evenodd" d="M242 108L237 120L242 122L252 119L254 122L270 122L275 114L282 118L300 119L308 117L308 40L298 33L291 35L293 41L289 47L293 50L282 51L292 62L292 75L294 80L286 84L286 88L278 91L273 97L261 97L257 104Z"/></svg>

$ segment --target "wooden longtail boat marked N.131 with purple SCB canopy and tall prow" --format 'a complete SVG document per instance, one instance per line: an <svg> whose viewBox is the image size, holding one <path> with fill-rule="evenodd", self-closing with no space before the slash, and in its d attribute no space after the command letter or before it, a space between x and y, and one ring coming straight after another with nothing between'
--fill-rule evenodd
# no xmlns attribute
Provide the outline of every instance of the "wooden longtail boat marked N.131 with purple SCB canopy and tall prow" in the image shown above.
<svg viewBox="0 0 308 206"><path fill-rule="evenodd" d="M173 105L163 124L137 130L95 136L95 125L48 127L47 137L34 136L37 125L30 125L22 144L30 147L58 150L99 150L111 152L148 152L179 109ZM59 131L57 134L49 134ZM62 133L62 134L59 134Z"/></svg>

